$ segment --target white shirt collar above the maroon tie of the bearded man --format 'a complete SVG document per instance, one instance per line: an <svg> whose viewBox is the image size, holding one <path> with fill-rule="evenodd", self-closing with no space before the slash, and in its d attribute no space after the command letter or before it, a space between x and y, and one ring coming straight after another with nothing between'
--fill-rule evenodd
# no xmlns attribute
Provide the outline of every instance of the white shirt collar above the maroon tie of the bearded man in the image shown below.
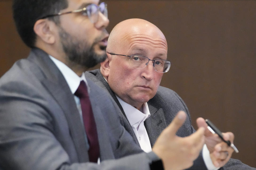
<svg viewBox="0 0 256 170"><path fill-rule="evenodd" d="M55 65L58 67L58 69L61 71L62 75L64 76L67 84L69 85L69 88L72 92L72 94L75 93L75 91L77 90L80 82L82 80L85 81L86 86L88 88L88 92L90 91L89 86L87 84L86 78L85 78L85 74L82 73L82 76L79 77L73 70L71 70L67 65L65 65L63 62L57 60L56 58L54 58L53 56L50 56L51 60L55 63Z"/></svg>

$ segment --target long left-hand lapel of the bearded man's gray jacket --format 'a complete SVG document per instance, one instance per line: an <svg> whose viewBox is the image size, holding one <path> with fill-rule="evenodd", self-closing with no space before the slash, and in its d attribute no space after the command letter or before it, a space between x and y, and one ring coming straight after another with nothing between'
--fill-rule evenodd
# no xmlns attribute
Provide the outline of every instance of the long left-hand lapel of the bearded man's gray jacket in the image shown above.
<svg viewBox="0 0 256 170"><path fill-rule="evenodd" d="M33 52L35 55L30 55L28 59L34 61L41 68L42 74L44 74L41 76L43 85L55 98L66 116L79 162L87 162L89 160L87 152L89 147L85 141L85 131L74 101L74 96L65 78L49 58L48 54L40 49L33 49Z"/></svg>

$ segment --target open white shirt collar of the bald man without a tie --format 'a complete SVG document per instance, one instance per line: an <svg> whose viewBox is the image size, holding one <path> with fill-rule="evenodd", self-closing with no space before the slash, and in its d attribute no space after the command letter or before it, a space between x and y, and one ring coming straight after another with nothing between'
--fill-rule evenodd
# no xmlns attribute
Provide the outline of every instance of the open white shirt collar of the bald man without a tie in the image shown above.
<svg viewBox="0 0 256 170"><path fill-rule="evenodd" d="M125 115L128 119L128 121L130 122L130 125L139 125L142 121L144 122L146 120L146 118L148 118L150 116L150 112L149 112L149 107L147 105L147 103L144 103L142 105L142 111L139 111L138 109L136 109L135 107L133 107L132 105L126 103L125 101L123 101L121 98L119 98L117 96L117 99L119 101L119 103L121 104Z"/></svg>

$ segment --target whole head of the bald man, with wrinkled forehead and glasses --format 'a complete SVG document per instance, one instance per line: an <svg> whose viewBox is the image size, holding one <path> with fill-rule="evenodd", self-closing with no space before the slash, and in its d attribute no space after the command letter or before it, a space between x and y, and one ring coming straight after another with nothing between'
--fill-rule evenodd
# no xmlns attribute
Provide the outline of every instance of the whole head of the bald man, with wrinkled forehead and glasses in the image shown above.
<svg viewBox="0 0 256 170"><path fill-rule="evenodd" d="M161 71L170 68L165 36L146 20L127 19L111 31L106 51L102 75L118 97L140 109L156 94Z"/></svg>

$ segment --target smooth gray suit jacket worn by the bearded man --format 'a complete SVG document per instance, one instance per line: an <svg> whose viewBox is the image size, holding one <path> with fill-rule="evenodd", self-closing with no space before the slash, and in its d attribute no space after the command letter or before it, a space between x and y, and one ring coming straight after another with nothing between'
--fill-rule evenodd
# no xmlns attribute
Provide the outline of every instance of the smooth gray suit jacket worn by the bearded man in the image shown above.
<svg viewBox="0 0 256 170"><path fill-rule="evenodd" d="M48 54L32 49L17 61L0 79L0 169L149 169L156 155L134 144L113 100L90 80L88 85L100 165L88 162L74 96Z"/></svg>

